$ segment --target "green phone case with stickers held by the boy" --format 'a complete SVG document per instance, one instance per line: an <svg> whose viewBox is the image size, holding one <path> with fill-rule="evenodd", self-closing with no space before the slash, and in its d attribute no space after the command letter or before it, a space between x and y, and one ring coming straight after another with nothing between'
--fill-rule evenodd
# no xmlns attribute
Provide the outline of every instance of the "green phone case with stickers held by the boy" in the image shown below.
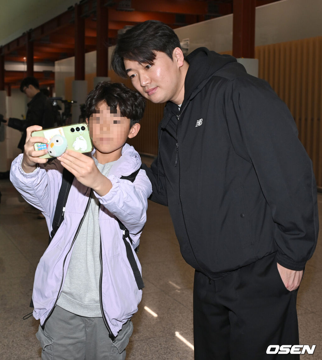
<svg viewBox="0 0 322 360"><path fill-rule="evenodd" d="M33 131L31 136L43 136L48 140L47 144L36 143L35 150L48 149L50 140L55 135L60 135L67 140L67 149L77 151L79 153L88 153L93 150L93 144L89 136L88 125L86 122L81 124L72 124L60 127L53 127L52 129L43 129ZM40 158L53 158L49 153L40 156Z"/></svg>

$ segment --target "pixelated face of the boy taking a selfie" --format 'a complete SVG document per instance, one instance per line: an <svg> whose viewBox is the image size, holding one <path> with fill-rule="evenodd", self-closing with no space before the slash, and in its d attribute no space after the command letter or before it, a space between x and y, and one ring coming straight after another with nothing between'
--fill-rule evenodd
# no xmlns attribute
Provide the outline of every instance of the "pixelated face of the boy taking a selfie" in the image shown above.
<svg viewBox="0 0 322 360"><path fill-rule="evenodd" d="M116 159L121 156L128 137L133 137L133 128L139 126L135 124L130 128L130 119L122 116L118 107L109 107L105 102L98 104L97 111L90 116L88 124L95 149L102 154L114 154Z"/></svg>

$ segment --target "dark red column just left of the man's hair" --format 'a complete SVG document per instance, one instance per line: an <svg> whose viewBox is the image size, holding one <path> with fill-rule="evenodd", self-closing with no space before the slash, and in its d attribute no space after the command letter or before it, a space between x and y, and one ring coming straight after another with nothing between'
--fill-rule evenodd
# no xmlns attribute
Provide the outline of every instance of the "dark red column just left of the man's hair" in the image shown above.
<svg viewBox="0 0 322 360"><path fill-rule="evenodd" d="M96 76L108 76L108 8L104 0L97 0Z"/></svg>

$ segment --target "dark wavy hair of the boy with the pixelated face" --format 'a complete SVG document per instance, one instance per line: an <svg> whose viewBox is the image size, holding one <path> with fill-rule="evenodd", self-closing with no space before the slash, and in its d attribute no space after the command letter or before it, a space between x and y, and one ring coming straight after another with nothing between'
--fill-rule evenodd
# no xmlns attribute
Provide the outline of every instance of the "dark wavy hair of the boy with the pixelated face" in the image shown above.
<svg viewBox="0 0 322 360"><path fill-rule="evenodd" d="M130 127L142 119L146 107L145 99L137 91L121 82L102 81L87 96L85 112L88 119L102 101L115 109L118 106L121 115L131 120Z"/></svg>

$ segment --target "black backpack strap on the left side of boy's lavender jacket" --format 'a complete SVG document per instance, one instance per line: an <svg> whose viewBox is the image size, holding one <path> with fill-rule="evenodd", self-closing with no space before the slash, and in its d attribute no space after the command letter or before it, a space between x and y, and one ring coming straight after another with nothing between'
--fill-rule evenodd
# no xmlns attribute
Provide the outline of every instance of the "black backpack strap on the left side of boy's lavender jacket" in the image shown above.
<svg viewBox="0 0 322 360"><path fill-rule="evenodd" d="M69 191L73 183L73 179L74 179L74 175L70 171L64 168L62 184L61 184L61 188L59 189L55 214L52 224L53 229L49 236L49 244L52 241L52 238L55 236L59 226L64 220L64 208L67 202Z"/></svg>

